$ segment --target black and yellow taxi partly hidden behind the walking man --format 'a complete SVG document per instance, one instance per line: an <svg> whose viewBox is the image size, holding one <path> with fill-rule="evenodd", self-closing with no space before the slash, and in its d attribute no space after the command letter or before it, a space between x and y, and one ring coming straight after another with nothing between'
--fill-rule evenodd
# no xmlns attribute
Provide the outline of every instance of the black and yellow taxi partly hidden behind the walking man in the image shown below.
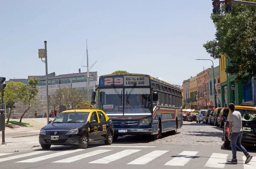
<svg viewBox="0 0 256 169"><path fill-rule="evenodd" d="M247 145L256 145L256 107L254 107L254 103L241 103L239 106L235 106L235 111L239 111L242 117L242 130L243 136L241 143ZM230 141L227 138L229 129L229 115L227 115L227 121L224 123L224 148L228 148Z"/></svg>

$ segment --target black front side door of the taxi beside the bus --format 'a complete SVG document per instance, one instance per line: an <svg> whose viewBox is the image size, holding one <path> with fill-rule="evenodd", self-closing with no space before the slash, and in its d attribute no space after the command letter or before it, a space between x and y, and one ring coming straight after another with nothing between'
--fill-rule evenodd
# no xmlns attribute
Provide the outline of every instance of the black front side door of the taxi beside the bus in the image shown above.
<svg viewBox="0 0 256 169"><path fill-rule="evenodd" d="M95 120L95 121L94 121ZM100 124L96 112L93 112L90 117L90 141L99 140Z"/></svg>

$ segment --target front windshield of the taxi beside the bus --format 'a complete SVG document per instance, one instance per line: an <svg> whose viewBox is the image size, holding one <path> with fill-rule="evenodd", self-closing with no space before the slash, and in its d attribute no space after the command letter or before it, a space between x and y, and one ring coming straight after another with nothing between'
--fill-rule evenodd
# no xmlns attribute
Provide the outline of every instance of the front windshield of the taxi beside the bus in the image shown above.
<svg viewBox="0 0 256 169"><path fill-rule="evenodd" d="M52 123L85 123L89 112L62 112Z"/></svg>

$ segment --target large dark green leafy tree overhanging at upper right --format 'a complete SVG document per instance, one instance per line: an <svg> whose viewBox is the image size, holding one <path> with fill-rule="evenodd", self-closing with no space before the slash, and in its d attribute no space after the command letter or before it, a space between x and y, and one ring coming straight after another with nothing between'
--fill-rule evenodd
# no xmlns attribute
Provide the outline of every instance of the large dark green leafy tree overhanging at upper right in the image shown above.
<svg viewBox="0 0 256 169"><path fill-rule="evenodd" d="M256 0L250 0L256 2ZM256 76L256 8L244 4L232 4L233 12L212 14L215 39L203 46L214 59L225 56L230 59L226 72L235 75L235 81L244 84ZM221 6L224 11L224 5Z"/></svg>

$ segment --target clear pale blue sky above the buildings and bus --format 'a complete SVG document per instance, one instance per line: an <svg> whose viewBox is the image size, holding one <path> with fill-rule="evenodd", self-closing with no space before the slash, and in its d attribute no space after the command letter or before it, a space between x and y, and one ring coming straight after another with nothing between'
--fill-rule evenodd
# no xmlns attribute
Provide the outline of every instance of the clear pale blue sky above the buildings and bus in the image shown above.
<svg viewBox="0 0 256 169"><path fill-rule="evenodd" d="M214 39L211 0L14 0L0 5L0 76L44 75L38 49L47 40L48 73L116 70L150 74L170 83L212 65L203 43ZM214 60L218 66L218 60ZM83 64L86 66L86 58Z"/></svg>

